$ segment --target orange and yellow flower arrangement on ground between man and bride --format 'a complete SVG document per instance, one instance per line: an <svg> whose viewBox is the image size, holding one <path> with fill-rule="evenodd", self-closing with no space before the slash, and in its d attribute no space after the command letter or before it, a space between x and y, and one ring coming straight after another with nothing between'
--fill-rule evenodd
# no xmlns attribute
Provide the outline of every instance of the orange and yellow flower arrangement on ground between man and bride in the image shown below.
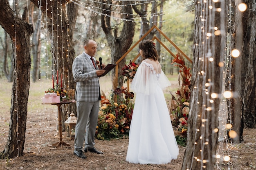
<svg viewBox="0 0 256 170"><path fill-rule="evenodd" d="M122 100L119 98L114 102L114 94L123 94ZM118 96L119 96L118 95ZM128 92L126 88L117 88L110 99L106 96L101 96L101 108L99 109L98 126L95 137L97 139L116 138L120 135L128 135L130 129L130 122L133 112L134 97L132 92Z"/></svg>

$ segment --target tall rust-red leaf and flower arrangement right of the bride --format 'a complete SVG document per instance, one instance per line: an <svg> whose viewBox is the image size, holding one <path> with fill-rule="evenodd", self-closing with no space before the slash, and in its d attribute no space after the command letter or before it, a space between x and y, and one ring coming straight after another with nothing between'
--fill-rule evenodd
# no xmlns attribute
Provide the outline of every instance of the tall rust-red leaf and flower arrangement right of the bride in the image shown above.
<svg viewBox="0 0 256 170"><path fill-rule="evenodd" d="M189 117L189 100L191 94L191 73L190 68L186 67L184 58L180 53L176 55L176 59L173 59L171 64L173 63L177 63L175 66L180 68L178 77L180 86L176 92L176 97L171 94L170 116L173 126L177 127L178 131L186 134L188 130L187 120Z"/></svg>

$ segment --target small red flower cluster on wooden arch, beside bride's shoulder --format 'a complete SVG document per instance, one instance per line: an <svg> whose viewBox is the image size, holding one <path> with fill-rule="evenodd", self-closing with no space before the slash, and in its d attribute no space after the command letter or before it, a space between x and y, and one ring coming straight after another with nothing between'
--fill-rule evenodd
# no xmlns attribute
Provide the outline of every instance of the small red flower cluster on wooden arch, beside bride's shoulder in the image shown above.
<svg viewBox="0 0 256 170"><path fill-rule="evenodd" d="M124 83L126 83L126 81L128 81L128 79L130 79L130 81L132 81L138 67L139 67L139 64L134 63L131 60L128 65L124 65L124 67L122 68L122 75L126 76L126 79L124 79Z"/></svg>

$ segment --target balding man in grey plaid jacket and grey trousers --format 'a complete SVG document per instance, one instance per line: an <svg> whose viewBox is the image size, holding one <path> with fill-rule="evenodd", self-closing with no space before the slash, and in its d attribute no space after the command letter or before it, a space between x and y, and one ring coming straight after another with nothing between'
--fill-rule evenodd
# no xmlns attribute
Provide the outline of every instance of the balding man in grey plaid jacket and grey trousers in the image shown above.
<svg viewBox="0 0 256 170"><path fill-rule="evenodd" d="M91 39L84 42L85 51L74 59L72 72L76 82L77 121L74 139L74 155L85 159L85 153L103 154L94 148L94 135L98 122L99 101L101 100L98 76L105 70L98 70L95 62L97 43ZM103 65L103 68L105 65ZM86 130L86 132L85 132Z"/></svg>

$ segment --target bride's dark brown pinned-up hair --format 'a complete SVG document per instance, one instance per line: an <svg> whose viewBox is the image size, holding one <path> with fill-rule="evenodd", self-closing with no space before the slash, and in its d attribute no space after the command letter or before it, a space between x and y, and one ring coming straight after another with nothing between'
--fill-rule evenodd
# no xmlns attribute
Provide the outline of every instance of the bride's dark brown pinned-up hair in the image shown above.
<svg viewBox="0 0 256 170"><path fill-rule="evenodd" d="M142 40L139 43L139 49L142 50L142 60L152 58L154 61L159 59L155 43L151 39Z"/></svg>

